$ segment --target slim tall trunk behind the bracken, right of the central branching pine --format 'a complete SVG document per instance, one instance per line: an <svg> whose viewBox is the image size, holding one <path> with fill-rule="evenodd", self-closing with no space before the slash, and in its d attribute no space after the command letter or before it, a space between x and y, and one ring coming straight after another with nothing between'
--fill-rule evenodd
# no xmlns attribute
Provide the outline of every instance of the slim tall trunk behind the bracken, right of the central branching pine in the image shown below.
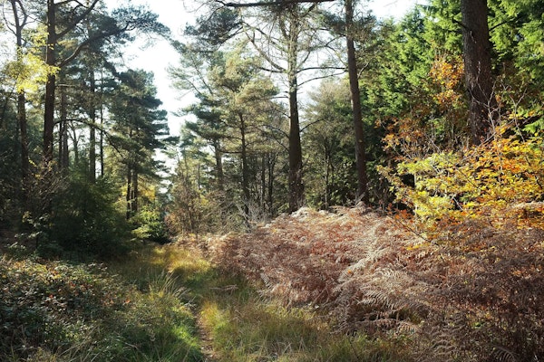
<svg viewBox="0 0 544 362"><path fill-rule="evenodd" d="M349 90L351 93L352 113L355 129L355 162L357 166L356 201L368 203L368 180L366 176L366 155L364 151L363 110L361 108L361 93L357 76L357 60L355 58L355 43L353 37L354 6L353 0L345 0L345 40L347 44L347 70L349 74Z"/></svg>

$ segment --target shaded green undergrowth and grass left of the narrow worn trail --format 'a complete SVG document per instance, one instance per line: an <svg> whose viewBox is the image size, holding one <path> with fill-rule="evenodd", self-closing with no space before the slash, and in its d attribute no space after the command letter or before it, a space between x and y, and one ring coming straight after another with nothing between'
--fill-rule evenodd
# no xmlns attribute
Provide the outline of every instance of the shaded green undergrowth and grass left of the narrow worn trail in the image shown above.
<svg viewBox="0 0 544 362"><path fill-rule="evenodd" d="M5 253L0 360L201 360L185 290L145 250L112 266Z"/></svg>

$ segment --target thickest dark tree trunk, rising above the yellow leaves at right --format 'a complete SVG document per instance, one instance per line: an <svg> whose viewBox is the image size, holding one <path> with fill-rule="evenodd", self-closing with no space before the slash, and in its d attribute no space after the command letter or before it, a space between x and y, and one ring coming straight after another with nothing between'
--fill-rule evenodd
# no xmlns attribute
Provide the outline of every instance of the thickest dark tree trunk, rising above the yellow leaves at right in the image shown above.
<svg viewBox="0 0 544 362"><path fill-rule="evenodd" d="M461 0L464 72L470 101L472 143L479 145L499 118L491 75L491 42L486 0Z"/></svg>

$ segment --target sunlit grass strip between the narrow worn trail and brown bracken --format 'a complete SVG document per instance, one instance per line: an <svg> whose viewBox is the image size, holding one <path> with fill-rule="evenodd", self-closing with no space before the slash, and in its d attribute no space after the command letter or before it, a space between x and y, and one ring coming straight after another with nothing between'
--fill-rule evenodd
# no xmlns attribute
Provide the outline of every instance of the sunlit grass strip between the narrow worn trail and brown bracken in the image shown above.
<svg viewBox="0 0 544 362"><path fill-rule="evenodd" d="M315 310L286 308L198 251L168 245L154 252L185 289L202 360L208 362L402 361L399 346L336 334Z"/></svg>

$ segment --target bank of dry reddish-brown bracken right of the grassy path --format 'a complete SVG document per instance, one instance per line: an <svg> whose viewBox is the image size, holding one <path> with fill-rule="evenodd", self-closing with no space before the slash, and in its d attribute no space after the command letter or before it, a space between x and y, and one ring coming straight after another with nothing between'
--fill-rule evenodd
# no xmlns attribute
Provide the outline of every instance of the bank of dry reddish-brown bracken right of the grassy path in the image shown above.
<svg viewBox="0 0 544 362"><path fill-rule="evenodd" d="M406 360L544 359L544 231L484 220L428 243L360 208L302 209L254 233L210 239L218 265L263 281L337 329L413 340Z"/></svg>

